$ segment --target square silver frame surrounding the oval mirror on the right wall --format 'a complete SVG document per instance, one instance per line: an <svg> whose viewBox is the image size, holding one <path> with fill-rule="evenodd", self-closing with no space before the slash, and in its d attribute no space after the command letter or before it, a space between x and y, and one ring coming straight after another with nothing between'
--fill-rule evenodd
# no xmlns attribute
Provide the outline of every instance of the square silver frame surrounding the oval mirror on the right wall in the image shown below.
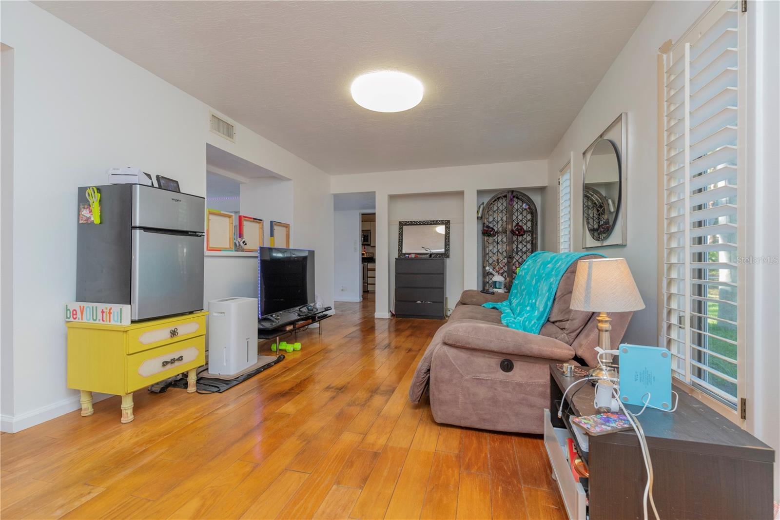
<svg viewBox="0 0 780 520"><path fill-rule="evenodd" d="M609 124L599 136L583 151L582 190L580 192L580 214L582 218L582 243L583 249L592 249L601 246L625 246L628 239L628 114L622 112L615 121ZM615 153L618 154L618 170L620 175L620 189L618 207L615 211L615 221L612 223L612 232L601 241L597 241L587 230L584 218L583 196L585 193L585 178L587 175L587 163L590 160L590 151L601 140L607 140L612 144ZM620 233L616 228L620 228Z"/></svg>

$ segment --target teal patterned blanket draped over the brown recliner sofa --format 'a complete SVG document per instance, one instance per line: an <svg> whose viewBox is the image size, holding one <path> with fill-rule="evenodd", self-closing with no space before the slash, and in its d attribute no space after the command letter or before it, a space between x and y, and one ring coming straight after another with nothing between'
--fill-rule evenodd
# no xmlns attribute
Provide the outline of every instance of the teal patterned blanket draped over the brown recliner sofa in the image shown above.
<svg viewBox="0 0 780 520"><path fill-rule="evenodd" d="M504 302L485 303L483 307L501 311L501 322L516 331L539 334L547 321L558 291L558 283L569 266L583 256L601 253L551 253L537 251L517 270L515 282Z"/></svg>

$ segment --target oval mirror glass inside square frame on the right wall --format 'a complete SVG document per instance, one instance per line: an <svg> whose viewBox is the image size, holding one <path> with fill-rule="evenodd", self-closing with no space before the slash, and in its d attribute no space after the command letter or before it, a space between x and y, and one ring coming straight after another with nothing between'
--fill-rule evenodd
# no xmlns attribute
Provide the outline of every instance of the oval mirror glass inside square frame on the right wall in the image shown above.
<svg viewBox="0 0 780 520"><path fill-rule="evenodd" d="M590 237L605 241L620 210L620 154L608 139L594 144L583 177L583 224Z"/></svg>

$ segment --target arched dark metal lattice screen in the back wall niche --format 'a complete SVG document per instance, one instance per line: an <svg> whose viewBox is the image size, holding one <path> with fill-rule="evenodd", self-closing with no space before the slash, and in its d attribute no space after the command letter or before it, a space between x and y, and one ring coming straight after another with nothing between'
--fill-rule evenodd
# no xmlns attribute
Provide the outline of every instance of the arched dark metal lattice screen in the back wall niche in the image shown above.
<svg viewBox="0 0 780 520"><path fill-rule="evenodd" d="M517 269L537 250L537 208L530 196L508 190L488 200L482 213L482 281L488 288L490 267L506 280L509 291Z"/></svg>

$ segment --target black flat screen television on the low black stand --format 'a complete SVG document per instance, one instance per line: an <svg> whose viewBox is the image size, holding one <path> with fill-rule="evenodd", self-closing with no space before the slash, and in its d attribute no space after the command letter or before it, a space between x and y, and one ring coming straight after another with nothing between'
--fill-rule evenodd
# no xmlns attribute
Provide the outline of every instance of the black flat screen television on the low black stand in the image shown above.
<svg viewBox="0 0 780 520"><path fill-rule="evenodd" d="M257 248L257 317L314 303L314 251Z"/></svg>

